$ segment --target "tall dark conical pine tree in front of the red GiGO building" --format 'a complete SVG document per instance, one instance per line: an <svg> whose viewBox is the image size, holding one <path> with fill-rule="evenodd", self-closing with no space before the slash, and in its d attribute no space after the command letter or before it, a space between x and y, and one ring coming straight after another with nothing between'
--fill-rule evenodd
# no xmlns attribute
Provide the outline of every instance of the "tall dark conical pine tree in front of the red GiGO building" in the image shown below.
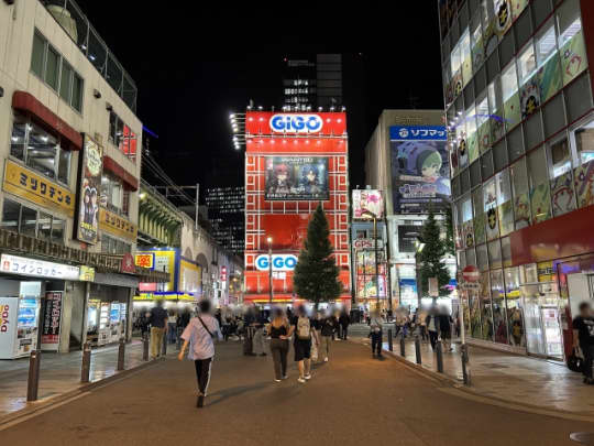
<svg viewBox="0 0 594 446"><path fill-rule="evenodd" d="M320 302L333 301L342 293L339 268L332 257L334 250L329 237L328 220L320 204L307 228L307 240L293 276L297 295L312 302L316 308Z"/></svg>

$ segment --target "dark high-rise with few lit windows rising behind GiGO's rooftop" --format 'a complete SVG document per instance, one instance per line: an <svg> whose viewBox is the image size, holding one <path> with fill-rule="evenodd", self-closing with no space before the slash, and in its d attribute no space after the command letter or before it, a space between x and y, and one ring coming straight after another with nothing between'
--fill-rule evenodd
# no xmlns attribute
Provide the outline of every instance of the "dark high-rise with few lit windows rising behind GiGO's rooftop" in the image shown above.
<svg viewBox="0 0 594 446"><path fill-rule="evenodd" d="M342 106L342 55L308 54L283 59L283 107L317 110ZM338 110L338 108L337 108Z"/></svg>

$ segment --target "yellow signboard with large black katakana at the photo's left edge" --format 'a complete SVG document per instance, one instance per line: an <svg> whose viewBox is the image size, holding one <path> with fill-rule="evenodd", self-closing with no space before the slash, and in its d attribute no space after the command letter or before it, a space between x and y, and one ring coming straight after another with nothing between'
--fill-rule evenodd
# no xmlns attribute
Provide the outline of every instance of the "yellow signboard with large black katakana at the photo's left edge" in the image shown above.
<svg viewBox="0 0 594 446"><path fill-rule="evenodd" d="M74 216L75 199L66 187L7 160L3 188L42 207Z"/></svg>

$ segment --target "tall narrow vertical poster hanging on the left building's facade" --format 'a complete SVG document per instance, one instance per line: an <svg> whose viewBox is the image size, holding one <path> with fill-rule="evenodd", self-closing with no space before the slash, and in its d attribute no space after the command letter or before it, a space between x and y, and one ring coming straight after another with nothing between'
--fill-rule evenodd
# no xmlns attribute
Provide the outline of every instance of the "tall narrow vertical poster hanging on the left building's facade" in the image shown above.
<svg viewBox="0 0 594 446"><path fill-rule="evenodd" d="M77 239L96 244L99 241L99 194L103 170L103 149L88 135L80 155Z"/></svg>

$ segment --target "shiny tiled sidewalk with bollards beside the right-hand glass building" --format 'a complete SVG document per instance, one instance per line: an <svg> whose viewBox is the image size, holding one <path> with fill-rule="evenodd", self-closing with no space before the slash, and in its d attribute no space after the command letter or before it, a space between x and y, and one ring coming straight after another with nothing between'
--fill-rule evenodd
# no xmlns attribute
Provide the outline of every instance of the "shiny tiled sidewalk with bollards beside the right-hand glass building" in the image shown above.
<svg viewBox="0 0 594 446"><path fill-rule="evenodd" d="M370 340L363 338L363 342L370 344ZM399 337L394 338L393 347L392 355L402 360ZM404 359L479 396L532 409L594 416L594 387L583 384L582 376L563 363L469 346L472 382L465 387L462 383L460 345L453 344L452 347L452 352L443 352L443 374L437 372L437 355L429 342L421 342L422 363L417 366L415 341L408 337ZM387 330L384 330L383 348L388 350Z"/></svg>

